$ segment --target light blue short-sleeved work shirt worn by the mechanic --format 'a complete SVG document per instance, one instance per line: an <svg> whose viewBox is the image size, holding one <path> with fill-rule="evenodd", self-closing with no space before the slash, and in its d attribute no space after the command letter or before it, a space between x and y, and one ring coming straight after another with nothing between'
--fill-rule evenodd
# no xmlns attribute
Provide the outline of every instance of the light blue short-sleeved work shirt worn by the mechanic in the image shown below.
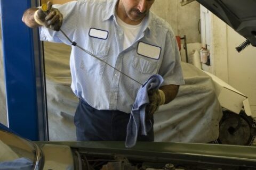
<svg viewBox="0 0 256 170"><path fill-rule="evenodd" d="M153 74L167 84L183 84L180 52L170 25L149 12L135 42L123 50L124 32L116 22L117 0L79 0L56 5L63 14L61 29L77 45L101 58L140 83ZM41 40L65 43L59 31L41 27ZM139 45L141 45L139 47ZM150 50L159 55L151 56ZM96 109L130 113L141 86L106 63L72 46L71 89Z"/></svg>

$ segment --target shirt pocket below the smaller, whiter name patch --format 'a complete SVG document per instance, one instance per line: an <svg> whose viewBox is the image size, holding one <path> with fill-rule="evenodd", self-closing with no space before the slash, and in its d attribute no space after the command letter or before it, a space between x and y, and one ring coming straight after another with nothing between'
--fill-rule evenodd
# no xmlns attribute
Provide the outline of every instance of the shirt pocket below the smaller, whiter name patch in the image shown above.
<svg viewBox="0 0 256 170"><path fill-rule="evenodd" d="M97 58L87 54L86 58L84 59L84 68L90 75L100 76L105 70L106 63L104 62L107 62L110 45L107 43L107 40L96 38L90 38L86 44L85 49Z"/></svg>

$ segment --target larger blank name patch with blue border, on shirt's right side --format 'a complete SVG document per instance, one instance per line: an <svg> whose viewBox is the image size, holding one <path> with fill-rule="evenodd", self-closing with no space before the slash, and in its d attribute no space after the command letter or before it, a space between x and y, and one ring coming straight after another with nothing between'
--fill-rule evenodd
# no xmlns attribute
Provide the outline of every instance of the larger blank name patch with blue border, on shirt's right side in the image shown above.
<svg viewBox="0 0 256 170"><path fill-rule="evenodd" d="M137 48L137 53L139 55L143 55L145 57L153 58L155 60L158 60L161 54L161 47L154 46L151 44L139 42L138 48Z"/></svg>

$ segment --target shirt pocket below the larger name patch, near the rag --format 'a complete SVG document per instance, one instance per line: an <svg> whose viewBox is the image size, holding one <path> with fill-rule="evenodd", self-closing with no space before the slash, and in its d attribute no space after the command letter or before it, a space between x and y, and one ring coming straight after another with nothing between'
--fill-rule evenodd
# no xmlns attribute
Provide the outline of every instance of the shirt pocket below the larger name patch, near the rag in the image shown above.
<svg viewBox="0 0 256 170"><path fill-rule="evenodd" d="M150 60L137 54L132 59L132 67L143 74L157 74L159 64L158 60Z"/></svg>

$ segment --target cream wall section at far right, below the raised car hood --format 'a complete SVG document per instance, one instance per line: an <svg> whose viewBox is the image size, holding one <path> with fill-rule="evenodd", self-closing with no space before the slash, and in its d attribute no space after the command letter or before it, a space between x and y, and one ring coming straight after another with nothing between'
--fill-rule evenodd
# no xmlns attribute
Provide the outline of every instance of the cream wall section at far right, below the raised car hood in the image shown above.
<svg viewBox="0 0 256 170"><path fill-rule="evenodd" d="M256 115L256 48L249 46L238 53L235 47L245 38L214 14L211 19L213 74L246 95L251 111Z"/></svg>

